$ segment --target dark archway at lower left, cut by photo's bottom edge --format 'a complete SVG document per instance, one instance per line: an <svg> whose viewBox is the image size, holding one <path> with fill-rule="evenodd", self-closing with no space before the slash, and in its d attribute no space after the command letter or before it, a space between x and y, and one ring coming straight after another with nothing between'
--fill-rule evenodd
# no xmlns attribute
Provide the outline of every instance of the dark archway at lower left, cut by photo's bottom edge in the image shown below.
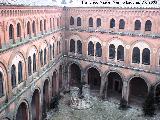
<svg viewBox="0 0 160 120"><path fill-rule="evenodd" d="M22 102L17 110L16 120L29 120L28 109L25 102Z"/></svg>

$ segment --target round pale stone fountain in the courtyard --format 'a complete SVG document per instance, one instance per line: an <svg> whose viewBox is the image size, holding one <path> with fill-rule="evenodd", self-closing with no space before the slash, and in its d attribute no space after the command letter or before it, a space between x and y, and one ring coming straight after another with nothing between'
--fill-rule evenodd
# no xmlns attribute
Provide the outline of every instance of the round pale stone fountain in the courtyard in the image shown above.
<svg viewBox="0 0 160 120"><path fill-rule="evenodd" d="M81 97L79 95L80 89L78 87L70 88L70 106L74 109L88 109L92 107L91 96L90 96L90 87L85 84L82 87Z"/></svg>

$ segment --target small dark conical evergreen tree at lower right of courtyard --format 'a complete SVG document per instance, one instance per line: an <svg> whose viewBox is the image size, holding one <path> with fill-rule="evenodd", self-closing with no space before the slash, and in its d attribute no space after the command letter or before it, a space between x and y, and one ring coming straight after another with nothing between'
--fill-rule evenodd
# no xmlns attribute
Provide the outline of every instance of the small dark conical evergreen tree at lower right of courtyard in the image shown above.
<svg viewBox="0 0 160 120"><path fill-rule="evenodd" d="M153 116L155 114L155 106L154 106L154 87L150 87L150 91L148 93L148 96L146 97L144 103L143 103L143 113L144 115Z"/></svg>

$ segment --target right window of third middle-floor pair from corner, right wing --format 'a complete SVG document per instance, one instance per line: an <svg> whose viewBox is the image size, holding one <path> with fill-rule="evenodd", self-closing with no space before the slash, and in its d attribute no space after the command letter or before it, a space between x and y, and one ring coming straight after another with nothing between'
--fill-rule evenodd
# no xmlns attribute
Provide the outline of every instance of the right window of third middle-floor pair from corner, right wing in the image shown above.
<svg viewBox="0 0 160 120"><path fill-rule="evenodd" d="M124 47L122 45L118 46L117 60L124 61Z"/></svg>

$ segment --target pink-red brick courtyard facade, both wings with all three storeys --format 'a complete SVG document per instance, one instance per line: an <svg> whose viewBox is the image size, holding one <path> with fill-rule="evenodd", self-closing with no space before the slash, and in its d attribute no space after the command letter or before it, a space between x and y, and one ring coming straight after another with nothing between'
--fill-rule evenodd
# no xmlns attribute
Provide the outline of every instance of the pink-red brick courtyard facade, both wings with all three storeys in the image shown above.
<svg viewBox="0 0 160 120"><path fill-rule="evenodd" d="M159 96L159 9L0 7L0 119L39 120L80 81L102 98ZM129 17L128 17L129 16Z"/></svg>

